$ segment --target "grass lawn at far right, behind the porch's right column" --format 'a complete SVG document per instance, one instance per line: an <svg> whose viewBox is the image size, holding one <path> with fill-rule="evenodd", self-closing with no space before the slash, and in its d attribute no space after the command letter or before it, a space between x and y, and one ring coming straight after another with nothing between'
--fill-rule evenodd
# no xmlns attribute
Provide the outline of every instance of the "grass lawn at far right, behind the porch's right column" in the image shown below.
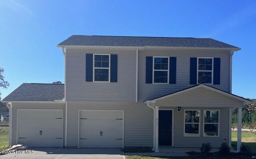
<svg viewBox="0 0 256 159"><path fill-rule="evenodd" d="M232 132L232 147L237 150L237 132ZM253 153L256 153L256 134L252 132L242 132L242 144L251 147Z"/></svg>

